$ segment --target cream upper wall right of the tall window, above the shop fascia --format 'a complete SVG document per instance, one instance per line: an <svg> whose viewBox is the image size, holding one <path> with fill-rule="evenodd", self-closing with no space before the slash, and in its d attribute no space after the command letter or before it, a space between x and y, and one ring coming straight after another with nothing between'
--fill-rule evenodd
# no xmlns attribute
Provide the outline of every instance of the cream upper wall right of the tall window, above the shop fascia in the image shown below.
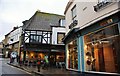
<svg viewBox="0 0 120 76"><path fill-rule="evenodd" d="M118 3L112 3L95 12L93 6L97 5L97 3L98 2L79 2L77 4L78 26L80 29L118 12L118 10L116 10L118 9ZM84 8L86 9L83 10Z"/></svg>

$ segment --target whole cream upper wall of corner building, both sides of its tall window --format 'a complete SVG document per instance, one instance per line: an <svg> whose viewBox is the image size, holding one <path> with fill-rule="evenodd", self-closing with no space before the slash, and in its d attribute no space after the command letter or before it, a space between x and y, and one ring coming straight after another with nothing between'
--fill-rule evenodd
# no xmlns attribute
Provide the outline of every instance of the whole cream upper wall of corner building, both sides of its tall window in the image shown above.
<svg viewBox="0 0 120 76"><path fill-rule="evenodd" d="M119 2L120 3L120 2ZM76 4L76 12L77 12L77 18L78 25L75 26L75 28L80 27L80 29L83 29L99 20L102 20L103 18L110 16L120 10L117 10L119 8L118 2L112 3L108 5L107 7L103 8L102 10L95 12L94 6L98 4L98 0L89 0L89 2L83 2L83 0L74 0L74 2L70 5L68 8L66 14L65 14L65 20L66 20L66 33L70 31L69 25L72 23L72 15L71 15L71 9Z"/></svg>

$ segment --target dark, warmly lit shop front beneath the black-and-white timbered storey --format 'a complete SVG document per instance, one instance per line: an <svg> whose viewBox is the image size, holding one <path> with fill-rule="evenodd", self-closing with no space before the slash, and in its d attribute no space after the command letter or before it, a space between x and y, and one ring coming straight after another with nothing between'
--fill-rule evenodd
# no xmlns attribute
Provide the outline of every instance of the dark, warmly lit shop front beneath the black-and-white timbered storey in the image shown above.
<svg viewBox="0 0 120 76"><path fill-rule="evenodd" d="M50 66L56 66L56 62L65 62L64 46L61 45L26 43L25 50L21 49L20 54L20 60L24 63L36 64L38 59L44 61L45 56L48 57Z"/></svg>

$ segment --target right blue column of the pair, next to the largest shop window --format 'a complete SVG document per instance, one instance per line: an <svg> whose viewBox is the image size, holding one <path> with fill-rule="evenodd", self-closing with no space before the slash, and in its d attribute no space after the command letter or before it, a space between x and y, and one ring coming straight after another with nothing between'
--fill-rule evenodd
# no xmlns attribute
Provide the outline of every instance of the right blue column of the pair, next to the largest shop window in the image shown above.
<svg viewBox="0 0 120 76"><path fill-rule="evenodd" d="M80 46L80 52L81 52L81 71L85 72L85 62L84 62L84 41L83 36L79 37L79 46Z"/></svg>

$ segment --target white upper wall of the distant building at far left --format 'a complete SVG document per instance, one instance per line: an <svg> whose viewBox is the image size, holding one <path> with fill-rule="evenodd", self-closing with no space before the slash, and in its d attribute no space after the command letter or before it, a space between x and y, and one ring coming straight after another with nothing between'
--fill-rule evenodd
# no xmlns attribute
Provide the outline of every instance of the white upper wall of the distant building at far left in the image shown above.
<svg viewBox="0 0 120 76"><path fill-rule="evenodd" d="M19 37L21 36L22 33L22 27L19 27L18 29L14 30L9 34L9 39L8 39L8 44L13 44L15 42L19 41ZM13 41L11 41L13 39Z"/></svg>

